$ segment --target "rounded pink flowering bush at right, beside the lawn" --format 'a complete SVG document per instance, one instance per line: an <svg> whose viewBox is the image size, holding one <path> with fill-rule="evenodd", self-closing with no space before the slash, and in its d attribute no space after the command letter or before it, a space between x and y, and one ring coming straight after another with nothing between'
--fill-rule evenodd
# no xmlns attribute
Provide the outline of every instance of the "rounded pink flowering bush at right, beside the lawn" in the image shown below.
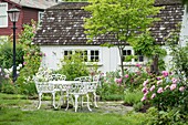
<svg viewBox="0 0 188 125"><path fill-rule="evenodd" d="M187 108L187 80L180 81L177 75L163 71L161 76L147 79L143 83L143 102L149 102L158 110L166 111L175 106Z"/></svg>

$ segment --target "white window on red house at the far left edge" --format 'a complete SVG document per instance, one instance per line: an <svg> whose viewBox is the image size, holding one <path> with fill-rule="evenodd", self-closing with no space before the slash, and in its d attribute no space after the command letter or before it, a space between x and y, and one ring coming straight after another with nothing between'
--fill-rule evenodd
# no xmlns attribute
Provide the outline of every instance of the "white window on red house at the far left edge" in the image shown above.
<svg viewBox="0 0 188 125"><path fill-rule="evenodd" d="M1 2L0 3L0 28L8 27L8 3Z"/></svg>

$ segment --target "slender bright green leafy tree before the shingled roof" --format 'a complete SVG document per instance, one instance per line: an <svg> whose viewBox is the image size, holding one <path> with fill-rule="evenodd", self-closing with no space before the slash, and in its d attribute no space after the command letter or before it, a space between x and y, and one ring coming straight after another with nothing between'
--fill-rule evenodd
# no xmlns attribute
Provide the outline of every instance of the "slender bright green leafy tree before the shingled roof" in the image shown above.
<svg viewBox="0 0 188 125"><path fill-rule="evenodd" d="M157 19L159 7L154 7L154 0L88 0L90 4L84 10L92 17L85 20L84 28L88 41L96 37L113 34L119 51L122 74L123 50L126 43L132 45L138 39L139 32L146 29Z"/></svg>

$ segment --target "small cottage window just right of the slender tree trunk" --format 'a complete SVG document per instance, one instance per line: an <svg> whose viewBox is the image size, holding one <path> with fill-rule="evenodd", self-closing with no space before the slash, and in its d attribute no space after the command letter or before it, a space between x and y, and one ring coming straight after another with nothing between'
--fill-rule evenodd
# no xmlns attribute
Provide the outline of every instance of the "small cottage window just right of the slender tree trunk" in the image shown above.
<svg viewBox="0 0 188 125"><path fill-rule="evenodd" d="M124 62L144 62L144 55L134 52L134 50L124 50Z"/></svg>

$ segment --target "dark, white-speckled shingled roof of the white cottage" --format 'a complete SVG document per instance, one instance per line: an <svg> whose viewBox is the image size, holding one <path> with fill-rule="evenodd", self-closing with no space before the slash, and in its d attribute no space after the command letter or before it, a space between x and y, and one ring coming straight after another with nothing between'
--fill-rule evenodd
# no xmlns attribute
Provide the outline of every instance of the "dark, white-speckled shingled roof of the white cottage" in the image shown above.
<svg viewBox="0 0 188 125"><path fill-rule="evenodd" d="M156 0L155 6L165 7L157 14L161 20L150 28L157 43L164 42L164 38L167 37L171 30L176 29L176 24L181 22L184 8L179 1L180 0ZM115 39L105 35L92 43L86 42L87 39L84 34L83 19L91 17L91 14L81 8L87 4L87 2L61 2L58 6L46 9L42 25L34 38L34 43L42 45L98 45L104 42L111 42L115 44Z"/></svg>

